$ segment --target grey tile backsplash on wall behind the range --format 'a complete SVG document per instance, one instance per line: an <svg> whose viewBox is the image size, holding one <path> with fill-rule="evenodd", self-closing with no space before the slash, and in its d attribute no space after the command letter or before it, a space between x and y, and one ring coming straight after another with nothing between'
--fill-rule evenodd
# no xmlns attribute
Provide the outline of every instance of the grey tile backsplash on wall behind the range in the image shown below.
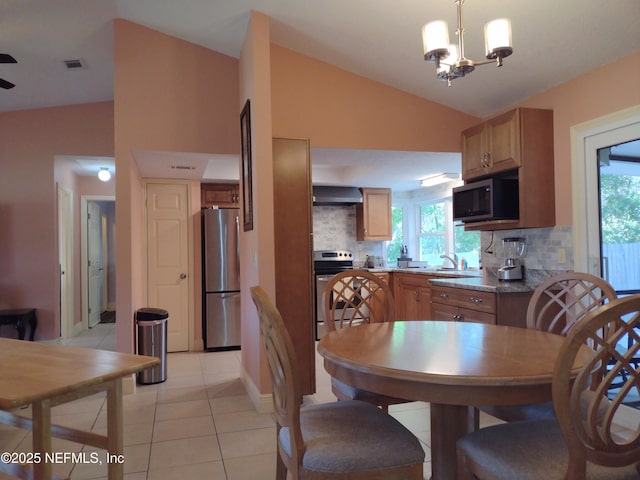
<svg viewBox="0 0 640 480"><path fill-rule="evenodd" d="M362 266L367 255L384 258L385 254L384 242L356 240L355 205L313 206L313 249L352 251L356 266Z"/></svg>

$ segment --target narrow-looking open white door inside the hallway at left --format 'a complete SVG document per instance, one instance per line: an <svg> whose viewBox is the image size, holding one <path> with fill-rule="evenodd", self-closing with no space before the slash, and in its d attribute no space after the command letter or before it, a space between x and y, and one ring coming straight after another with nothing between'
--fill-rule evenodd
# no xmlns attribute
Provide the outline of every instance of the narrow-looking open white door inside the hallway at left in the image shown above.
<svg viewBox="0 0 640 480"><path fill-rule="evenodd" d="M89 280L88 318L89 328L100 323L102 300L102 218L100 207L95 202L87 204L87 266Z"/></svg>

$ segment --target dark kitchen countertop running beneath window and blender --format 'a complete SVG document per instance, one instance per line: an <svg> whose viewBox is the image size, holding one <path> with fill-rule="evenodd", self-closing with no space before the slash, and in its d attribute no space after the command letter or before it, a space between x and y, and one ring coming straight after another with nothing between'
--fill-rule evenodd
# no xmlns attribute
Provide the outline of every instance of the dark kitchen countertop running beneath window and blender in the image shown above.
<svg viewBox="0 0 640 480"><path fill-rule="evenodd" d="M424 275L431 278L429 283L442 287L463 288L492 293L532 292L540 283L540 279L525 281L500 281L487 270L438 270L430 268L397 268L377 267L364 268L372 273L401 272Z"/></svg>

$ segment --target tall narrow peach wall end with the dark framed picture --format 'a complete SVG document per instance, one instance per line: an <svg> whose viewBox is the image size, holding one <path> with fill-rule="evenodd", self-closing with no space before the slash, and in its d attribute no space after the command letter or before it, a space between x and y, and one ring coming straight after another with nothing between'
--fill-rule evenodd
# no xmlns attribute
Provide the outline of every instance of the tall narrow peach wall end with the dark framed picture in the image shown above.
<svg viewBox="0 0 640 480"><path fill-rule="evenodd" d="M240 55L237 113L239 116L245 100L250 99L254 228L240 235L242 365L261 393L271 390L271 381L249 288L261 285L271 298L275 298L269 35L269 19L252 12Z"/></svg>

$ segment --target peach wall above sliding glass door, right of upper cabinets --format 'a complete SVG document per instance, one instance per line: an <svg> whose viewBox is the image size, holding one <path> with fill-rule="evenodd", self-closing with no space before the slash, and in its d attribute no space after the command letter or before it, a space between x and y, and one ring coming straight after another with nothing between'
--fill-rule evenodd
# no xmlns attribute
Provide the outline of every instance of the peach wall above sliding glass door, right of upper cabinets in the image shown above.
<svg viewBox="0 0 640 480"><path fill-rule="evenodd" d="M571 127L640 105L640 52L529 98L526 107L553 109L556 223L572 224Z"/></svg>

